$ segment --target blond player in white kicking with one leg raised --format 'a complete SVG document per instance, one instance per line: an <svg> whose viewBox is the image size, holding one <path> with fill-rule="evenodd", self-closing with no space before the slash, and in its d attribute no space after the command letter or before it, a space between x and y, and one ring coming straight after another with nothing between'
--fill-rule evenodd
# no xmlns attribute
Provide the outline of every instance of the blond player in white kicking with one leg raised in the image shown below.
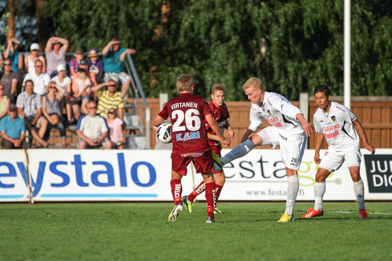
<svg viewBox="0 0 392 261"><path fill-rule="evenodd" d="M242 88L251 101L250 125L245 131L241 144L221 157L221 166L245 156L255 146L270 145L272 148L280 146L280 155L286 165L289 184L286 210L278 222L293 221L294 203L299 188L297 172L312 128L298 108L282 95L265 91L259 79L248 79ZM248 138L261 126L263 118L272 126Z"/></svg>

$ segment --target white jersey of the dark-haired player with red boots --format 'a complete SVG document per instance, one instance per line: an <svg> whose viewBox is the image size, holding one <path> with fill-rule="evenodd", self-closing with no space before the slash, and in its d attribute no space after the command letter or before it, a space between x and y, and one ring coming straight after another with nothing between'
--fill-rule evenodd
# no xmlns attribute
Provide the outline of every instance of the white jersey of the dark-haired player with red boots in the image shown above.
<svg viewBox="0 0 392 261"><path fill-rule="evenodd" d="M330 150L356 150L359 147L359 138L352 122L354 113L347 107L331 102L327 113L317 109L313 115L313 124L317 133L323 133Z"/></svg>

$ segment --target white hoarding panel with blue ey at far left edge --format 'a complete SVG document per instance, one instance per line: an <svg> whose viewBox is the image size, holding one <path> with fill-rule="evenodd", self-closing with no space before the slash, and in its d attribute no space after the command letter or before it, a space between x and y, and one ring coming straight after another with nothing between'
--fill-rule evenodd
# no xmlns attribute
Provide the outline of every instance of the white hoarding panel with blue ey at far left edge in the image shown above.
<svg viewBox="0 0 392 261"><path fill-rule="evenodd" d="M29 201L25 150L1 150L0 201Z"/></svg>

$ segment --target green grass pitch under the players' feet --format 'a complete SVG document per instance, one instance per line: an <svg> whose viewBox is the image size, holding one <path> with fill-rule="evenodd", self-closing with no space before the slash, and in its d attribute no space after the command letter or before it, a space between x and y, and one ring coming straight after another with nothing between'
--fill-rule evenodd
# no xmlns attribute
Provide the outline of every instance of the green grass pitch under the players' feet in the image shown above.
<svg viewBox="0 0 392 261"><path fill-rule="evenodd" d="M175 223L170 203L2 204L0 260L392 260L392 204L324 203L324 216L277 223L281 203L196 203Z"/></svg>

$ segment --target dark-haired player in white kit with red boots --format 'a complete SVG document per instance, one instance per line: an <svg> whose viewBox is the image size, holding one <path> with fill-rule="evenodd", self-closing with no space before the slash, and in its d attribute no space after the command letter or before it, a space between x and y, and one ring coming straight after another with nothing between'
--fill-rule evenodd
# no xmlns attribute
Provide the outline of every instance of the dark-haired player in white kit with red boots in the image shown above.
<svg viewBox="0 0 392 261"><path fill-rule="evenodd" d="M355 115L345 106L331 102L331 95L327 86L318 86L315 89L315 99L319 106L313 115L313 124L316 134L315 163L319 165L316 174L315 207L308 209L302 218L313 218L322 216L322 196L325 193L325 179L327 176L346 162L352 181L354 191L359 204L359 217L368 218L364 203L364 183L359 174L361 165L361 152L359 150L359 136L365 143L365 148L374 154L375 149L368 142L364 127ZM320 160L319 151L323 138L328 143L328 151Z"/></svg>

